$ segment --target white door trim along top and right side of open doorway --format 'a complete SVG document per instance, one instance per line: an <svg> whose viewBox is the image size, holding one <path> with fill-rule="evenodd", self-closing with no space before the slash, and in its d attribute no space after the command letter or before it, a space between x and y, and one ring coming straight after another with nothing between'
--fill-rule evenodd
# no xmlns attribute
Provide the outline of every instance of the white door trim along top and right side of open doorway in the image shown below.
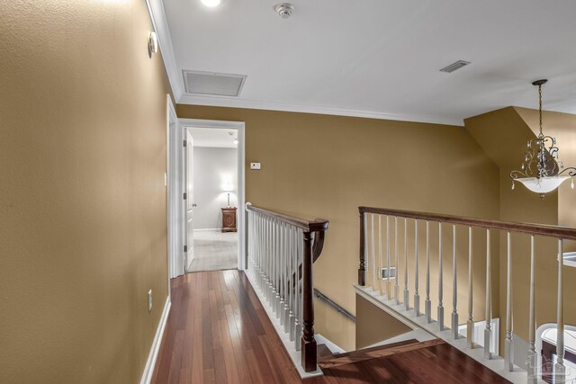
<svg viewBox="0 0 576 384"><path fill-rule="evenodd" d="M188 128L210 128L210 129L236 129L238 131L238 270L244 271L246 269L246 156L245 156L245 128L244 121L217 121L217 120L200 120L200 119L178 119L180 125L181 135L184 129ZM176 159L181 162L184 159L183 146L179 146L178 154L175 154ZM181 178L184 178L183 170L181 170ZM184 180L184 179L183 179ZM177 223L181 228L180 233L184 234L184 221ZM183 248L184 249L184 248Z"/></svg>

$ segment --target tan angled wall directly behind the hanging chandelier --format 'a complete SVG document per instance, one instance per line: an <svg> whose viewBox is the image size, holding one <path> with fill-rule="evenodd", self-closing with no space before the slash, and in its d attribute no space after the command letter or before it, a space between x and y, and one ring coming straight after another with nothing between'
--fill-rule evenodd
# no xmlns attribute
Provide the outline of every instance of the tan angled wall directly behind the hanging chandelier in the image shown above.
<svg viewBox="0 0 576 384"><path fill-rule="evenodd" d="M563 123L572 121L572 126L563 125L563 127L573 127L574 121L576 121L576 116L573 115L556 114L562 115L556 116L556 119L554 119L554 113L550 112L550 115L549 112L546 112L545 121L554 121L555 124L552 124L553 126L558 126L561 121ZM464 122L466 129L471 132L482 147L486 148L489 156L500 167L500 219L558 225L559 213L563 213L563 210L559 210L561 204L558 192L547 193L545 199L540 199L539 195L529 192L520 183L517 183L514 191L511 190L509 174L513 169L518 169L521 165L527 140L536 138L538 131L537 111L536 121L535 111L509 107L485 113L467 119ZM547 129L545 129L546 131ZM571 143L570 140L566 141ZM559 142L562 146L562 140ZM570 144L566 148L567 150L564 150L561 155L570 156L573 153L569 149L571 148ZM572 192L572 190L568 183L568 185L564 185L561 188L561 193L569 192ZM570 211L572 212L573 210ZM567 211L564 211L564 213L567 213ZM527 340L530 238L525 235L513 235L511 244L513 255L512 302L515 314L513 317L513 328L517 335ZM558 268L556 249L557 246L554 239L536 237L536 323L538 326L556 321ZM506 257L505 234L500 234L500 287L502 287L502 290L500 290L500 313L502 314L502 317L500 317L500 335L504 335L504 326L506 325ZM565 288L566 291L569 291L572 287L571 281L576 281L576 271L574 271L574 268L564 267L564 273ZM565 321L567 324L576 324L576 302L569 298L565 300Z"/></svg>

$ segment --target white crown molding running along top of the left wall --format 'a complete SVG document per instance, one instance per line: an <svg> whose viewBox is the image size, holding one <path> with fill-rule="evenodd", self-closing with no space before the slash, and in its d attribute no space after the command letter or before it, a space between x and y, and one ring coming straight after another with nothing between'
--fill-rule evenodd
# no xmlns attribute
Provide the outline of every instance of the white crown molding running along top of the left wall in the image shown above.
<svg viewBox="0 0 576 384"><path fill-rule="evenodd" d="M162 0L146 0L146 4L148 5L148 13L150 14L152 26L157 34L160 53L164 60L164 67L166 67L166 74L172 87L172 93L174 94L176 103L179 103L182 94L184 94L184 90L182 89L180 75L176 67L172 38L168 30L166 13L164 13L164 3L162 3Z"/></svg>

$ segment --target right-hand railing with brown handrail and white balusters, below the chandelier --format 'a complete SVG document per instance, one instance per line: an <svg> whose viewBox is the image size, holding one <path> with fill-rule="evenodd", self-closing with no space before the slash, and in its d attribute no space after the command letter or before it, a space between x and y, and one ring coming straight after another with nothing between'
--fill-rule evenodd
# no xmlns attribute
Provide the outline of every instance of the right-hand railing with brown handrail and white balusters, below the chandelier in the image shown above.
<svg viewBox="0 0 576 384"><path fill-rule="evenodd" d="M452 229L453 244L451 249L452 256L452 312L451 312L451 337L458 338L458 311L457 311L457 251L456 251L456 227L464 226L468 229L468 313L466 322L466 338L467 347L474 348L474 317L473 317L473 256L479 257L481 255L473 255L473 228L483 228L486 231L486 286L485 286L485 314L484 318L486 326L484 330L484 358L491 359L491 238L494 236L495 231L503 231L506 234L506 252L507 252L507 276L506 276L506 335L504 341L504 369L506 371L513 370L512 361L512 287L511 287L511 273L512 273L512 241L511 234L522 233L530 236L530 276L529 276L529 313L528 315L528 359L527 364L528 382L536 383L537 380L537 352L536 352L536 291L535 291L535 237L553 237L557 241L557 344L556 355L557 360L554 365L554 377L562 380L565 372L564 358L564 318L563 318L563 241L576 240L576 229L563 228L548 225L534 225L534 224L521 224L514 222L488 220L488 219L471 219L464 217L456 217L449 215L439 215L432 213L413 212L408 210L388 210L382 208L372 207L359 207L360 212L360 267L358 269L358 285L379 285L378 281L384 281L387 291L388 299L393 299L395 304L403 304L404 309L409 310L414 308L416 316L425 316L427 323L432 323L432 308L430 305L430 224L437 225L438 227L438 305L437 305L437 323L440 330L446 329L444 320L444 270L443 260L445 259L446 250L443 248L443 228ZM399 223L400 220L400 223ZM401 222L403 221L403 223ZM419 263L421 263L419 255L419 222L426 222L426 299L425 311L420 313L419 304ZM383 228L385 222L385 228ZM391 224L392 223L392 224ZM403 226L402 226L403 224ZM408 237L408 228L414 226L413 238ZM404 228L402 230L402 227ZM452 228L450 228L452 227ZM393 231L394 255L395 263L392 264L391 255L391 230ZM399 232L403 232L403 241L399 239ZM386 237L385 247L382 245L382 237ZM462 237L460 237L462 238ZM465 238L465 237L464 237ZM415 268L414 271L409 272L409 240L414 242L413 257ZM399 244L403 243L403 255L399 252ZM401 273L398 271L400 267L400 259L403 257L404 271L403 279ZM410 275L414 282L410 284ZM372 281L370 284L368 282ZM376 281L374 283L374 281ZM394 284L392 290L391 284ZM401 283L403 283L403 294L401 295ZM414 296L410 300L410 288L414 287ZM393 293L392 293L393 292ZM411 305L410 305L411 302ZM519 316L519 315L518 315ZM552 373L552 372L550 372ZM560 382L558 381L557 382Z"/></svg>

